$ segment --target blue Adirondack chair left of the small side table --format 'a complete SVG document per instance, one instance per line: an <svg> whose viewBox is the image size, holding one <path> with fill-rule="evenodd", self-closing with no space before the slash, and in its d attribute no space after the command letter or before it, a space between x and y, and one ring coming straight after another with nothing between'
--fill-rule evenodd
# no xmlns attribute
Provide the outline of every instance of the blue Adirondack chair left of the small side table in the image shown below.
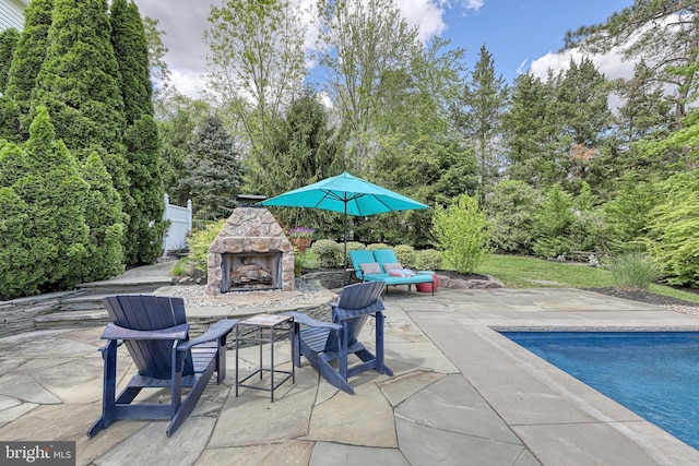
<svg viewBox="0 0 699 466"><path fill-rule="evenodd" d="M214 371L226 378L226 337L237 320L222 320L209 332L189 339L182 298L116 295L103 298L114 323L107 324L100 348L104 359L102 417L92 437L118 419L170 419L169 437L187 419ZM116 396L117 347L125 343L139 373ZM182 399L182 387L190 387ZM132 403L143 389L170 389L170 404Z"/></svg>

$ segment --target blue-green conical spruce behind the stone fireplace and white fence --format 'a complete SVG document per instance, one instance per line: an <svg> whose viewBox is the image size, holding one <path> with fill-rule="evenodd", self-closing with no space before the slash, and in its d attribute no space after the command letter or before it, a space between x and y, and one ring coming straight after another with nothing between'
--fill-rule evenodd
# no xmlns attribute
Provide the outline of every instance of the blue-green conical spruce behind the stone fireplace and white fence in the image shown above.
<svg viewBox="0 0 699 466"><path fill-rule="evenodd" d="M190 175L182 183L189 190L193 215L199 219L229 216L237 206L242 168L221 118L204 118L191 143L187 166Z"/></svg>

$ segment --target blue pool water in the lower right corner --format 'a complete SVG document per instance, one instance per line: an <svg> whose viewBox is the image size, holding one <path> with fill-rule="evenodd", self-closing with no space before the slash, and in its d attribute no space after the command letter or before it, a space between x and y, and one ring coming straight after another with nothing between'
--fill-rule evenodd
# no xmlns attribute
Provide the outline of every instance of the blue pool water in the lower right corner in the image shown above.
<svg viewBox="0 0 699 466"><path fill-rule="evenodd" d="M501 332L699 450L699 332Z"/></svg>

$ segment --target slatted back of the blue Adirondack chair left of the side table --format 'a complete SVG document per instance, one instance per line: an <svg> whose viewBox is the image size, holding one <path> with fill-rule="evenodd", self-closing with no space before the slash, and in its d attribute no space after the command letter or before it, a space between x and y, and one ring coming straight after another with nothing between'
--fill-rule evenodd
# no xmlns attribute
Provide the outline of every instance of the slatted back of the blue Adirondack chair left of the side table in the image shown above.
<svg viewBox="0 0 699 466"><path fill-rule="evenodd" d="M118 295L103 298L111 321L121 327L140 331L162 330L187 323L185 300L154 295ZM129 339L126 346L139 368L139 374L169 380L173 339ZM191 354L185 359L182 375L194 373Z"/></svg>

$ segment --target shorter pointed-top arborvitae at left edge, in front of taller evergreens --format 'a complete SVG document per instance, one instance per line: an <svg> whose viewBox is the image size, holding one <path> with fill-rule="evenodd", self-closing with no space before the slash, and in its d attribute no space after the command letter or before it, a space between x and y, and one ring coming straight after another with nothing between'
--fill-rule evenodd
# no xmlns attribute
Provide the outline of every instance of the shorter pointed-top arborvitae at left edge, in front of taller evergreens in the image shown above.
<svg viewBox="0 0 699 466"><path fill-rule="evenodd" d="M56 141L46 108L36 110L24 153L1 150L0 294L8 298L70 288L80 283L88 229L88 186L75 157Z"/></svg>

